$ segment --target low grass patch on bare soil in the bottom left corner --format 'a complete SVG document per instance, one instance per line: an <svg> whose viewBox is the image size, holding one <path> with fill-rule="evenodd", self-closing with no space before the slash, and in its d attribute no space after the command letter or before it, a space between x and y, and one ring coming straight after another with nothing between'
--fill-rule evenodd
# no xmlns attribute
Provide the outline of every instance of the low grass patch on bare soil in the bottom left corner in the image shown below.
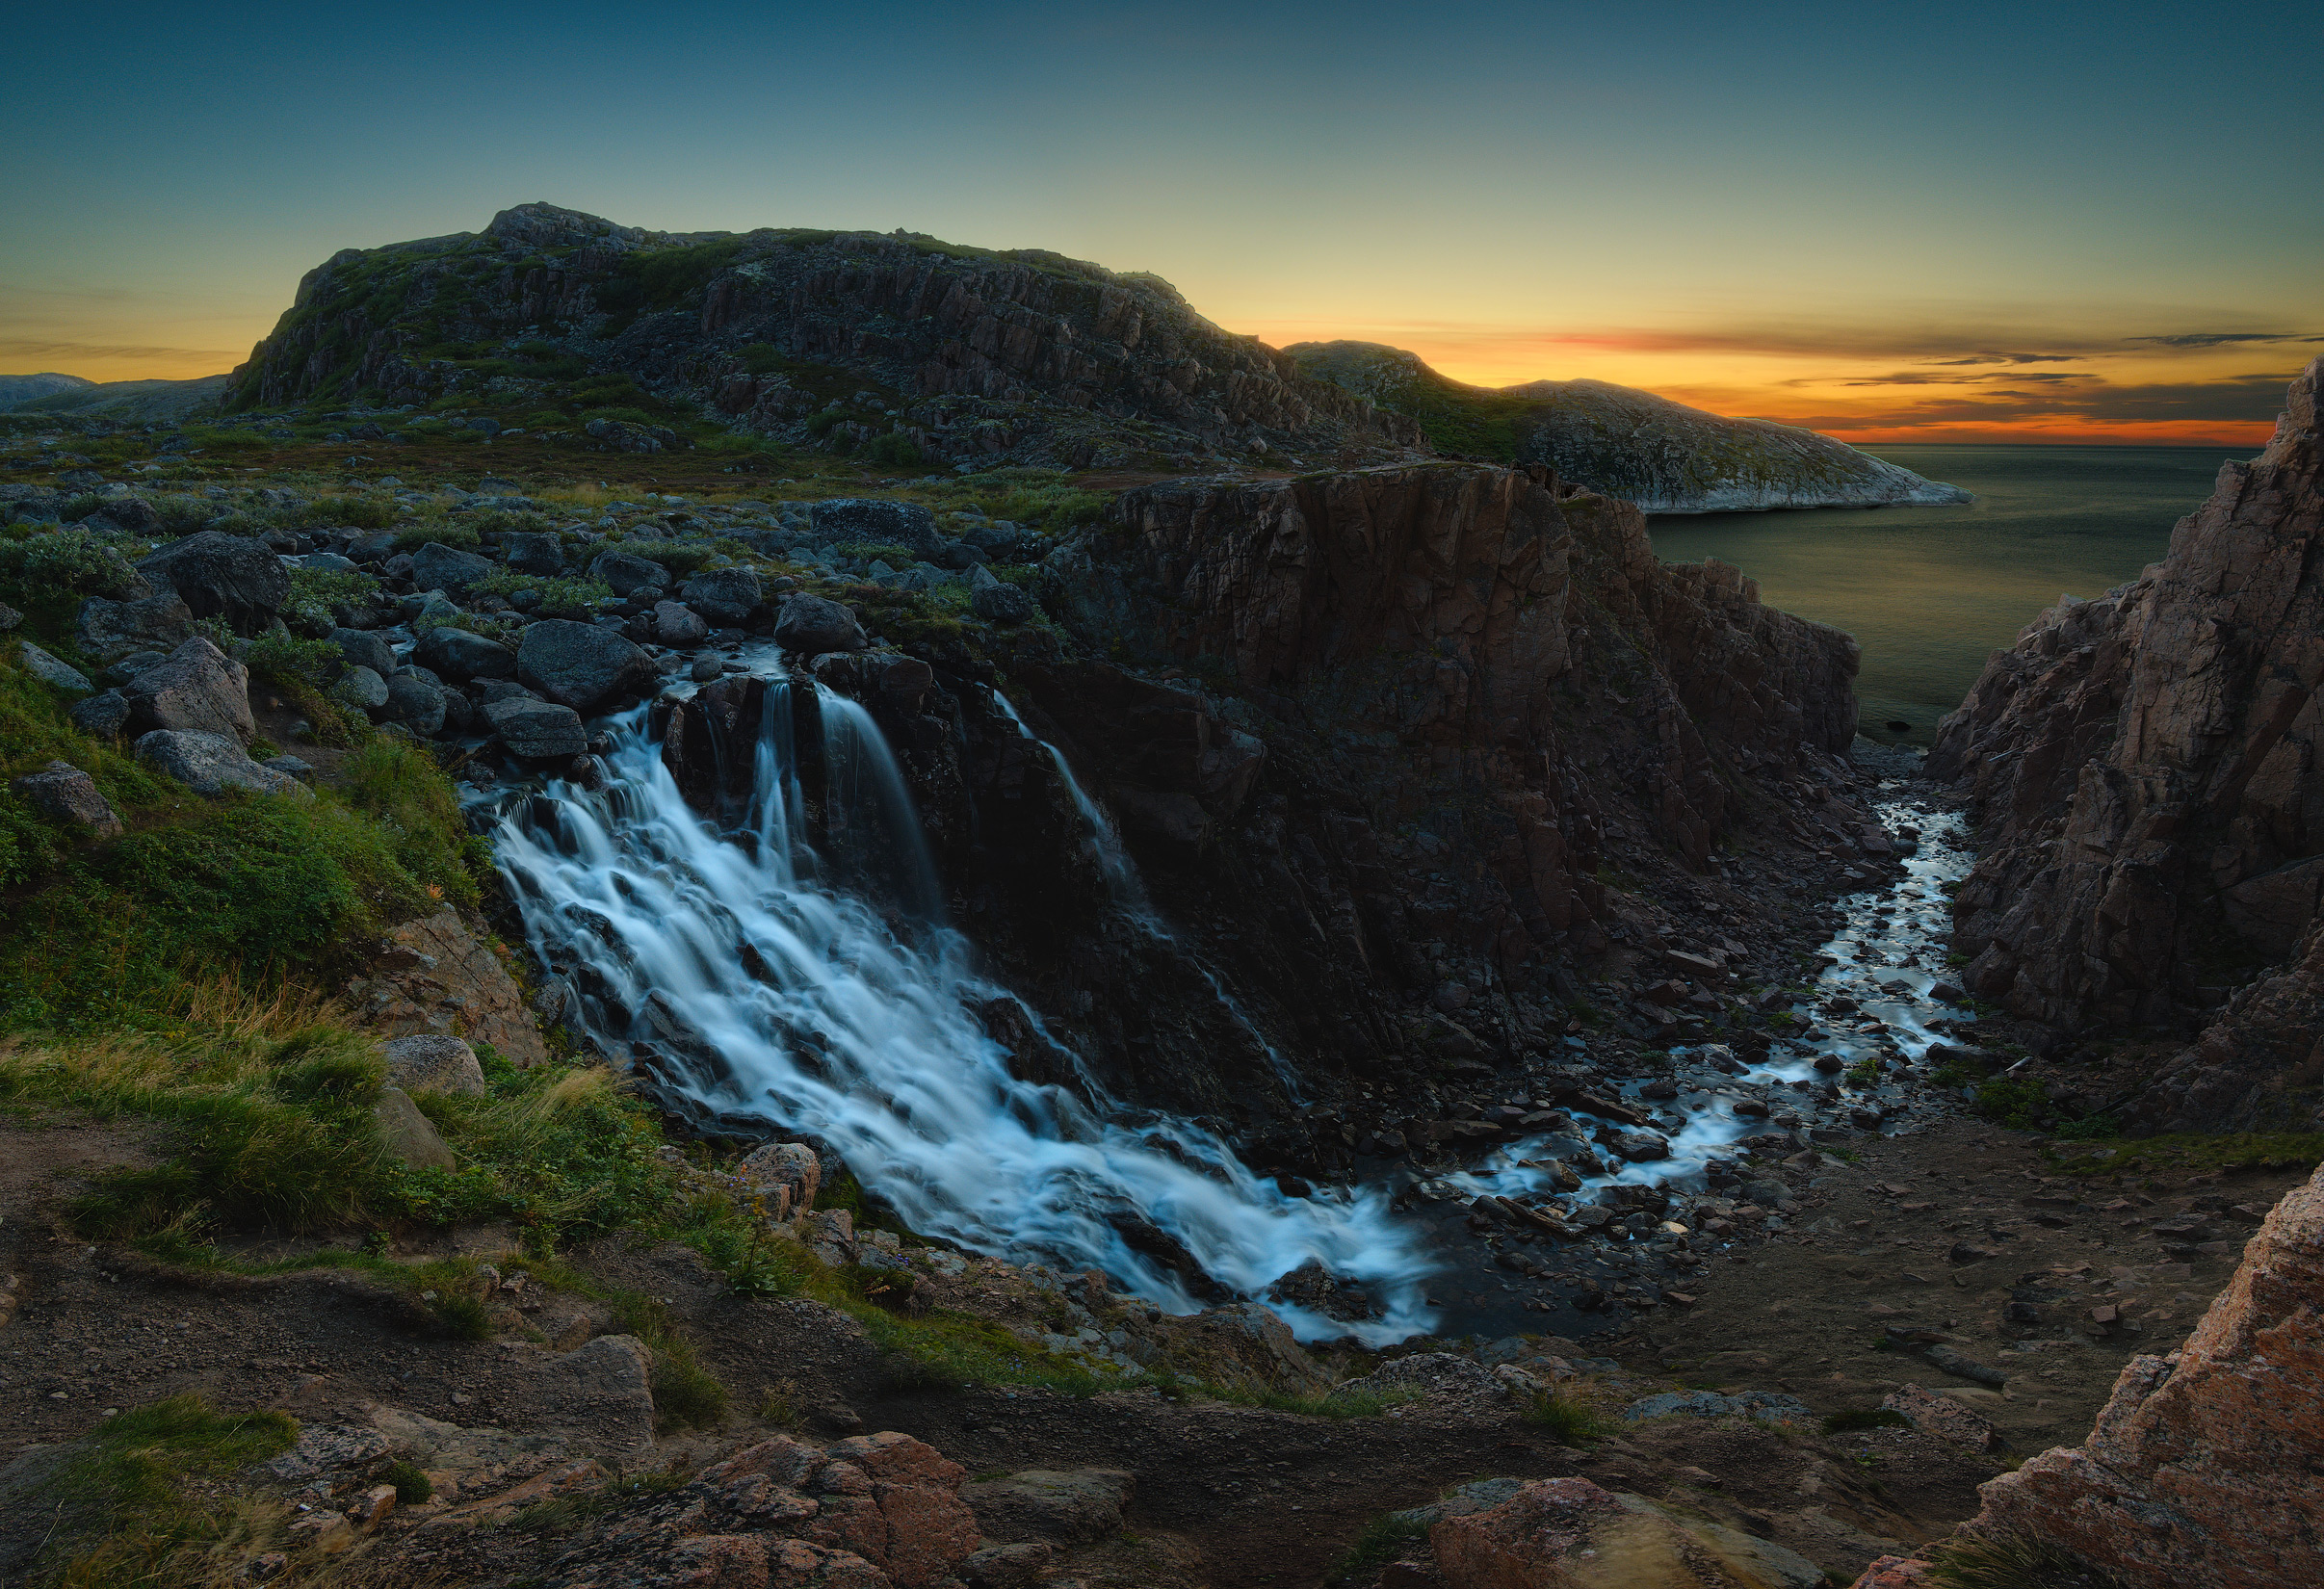
<svg viewBox="0 0 2324 1589"><path fill-rule="evenodd" d="M235 1496L225 1480L297 1443L284 1412L218 1412L170 1396L116 1412L37 1480L28 1503L56 1529L37 1580L56 1589L242 1582L281 1533L279 1503Z"/></svg>

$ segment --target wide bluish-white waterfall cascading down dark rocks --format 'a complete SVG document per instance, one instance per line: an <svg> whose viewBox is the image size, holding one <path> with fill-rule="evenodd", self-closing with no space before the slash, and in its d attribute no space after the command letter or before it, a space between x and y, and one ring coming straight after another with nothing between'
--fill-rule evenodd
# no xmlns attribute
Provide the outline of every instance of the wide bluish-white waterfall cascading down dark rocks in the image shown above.
<svg viewBox="0 0 2324 1589"><path fill-rule="evenodd" d="M1278 1308L1299 1333L1427 1329L1427 1261L1383 1189L1283 1196L1185 1120L1102 1117L1011 1076L967 1008L1009 994L944 925L878 727L816 685L818 832L790 741L795 688L767 688L734 834L686 806L644 709L611 725L609 788L558 781L504 806L500 867L528 936L572 966L590 1029L711 1113L830 1143L913 1229L964 1248L1095 1266L1178 1313L1197 1303L1155 1252L1176 1245L1246 1296L1320 1259L1383 1317Z"/></svg>

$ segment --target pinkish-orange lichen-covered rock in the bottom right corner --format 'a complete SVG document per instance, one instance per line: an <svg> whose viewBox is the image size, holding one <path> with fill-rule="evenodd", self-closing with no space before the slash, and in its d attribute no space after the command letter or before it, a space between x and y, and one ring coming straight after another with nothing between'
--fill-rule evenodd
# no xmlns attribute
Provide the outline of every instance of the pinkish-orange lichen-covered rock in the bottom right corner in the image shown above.
<svg viewBox="0 0 2324 1589"><path fill-rule="evenodd" d="M1968 1533L2129 1589L2280 1589L2324 1561L2324 1171L2275 1203L2187 1343L2133 1357L2080 1447L1982 1487Z"/></svg>

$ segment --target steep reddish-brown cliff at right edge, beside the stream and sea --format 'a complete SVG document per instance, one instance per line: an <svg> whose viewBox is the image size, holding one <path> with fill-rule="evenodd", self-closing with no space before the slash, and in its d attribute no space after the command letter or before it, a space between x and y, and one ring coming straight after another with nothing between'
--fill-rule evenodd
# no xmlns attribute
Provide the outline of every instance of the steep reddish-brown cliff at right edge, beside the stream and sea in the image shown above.
<svg viewBox="0 0 2324 1589"><path fill-rule="evenodd" d="M2315 1110L2319 372L2164 562L2036 618L1929 755L1987 841L1957 897L1973 992L2073 1029L2194 1020L2259 978L2131 1106L2154 1124Z"/></svg>

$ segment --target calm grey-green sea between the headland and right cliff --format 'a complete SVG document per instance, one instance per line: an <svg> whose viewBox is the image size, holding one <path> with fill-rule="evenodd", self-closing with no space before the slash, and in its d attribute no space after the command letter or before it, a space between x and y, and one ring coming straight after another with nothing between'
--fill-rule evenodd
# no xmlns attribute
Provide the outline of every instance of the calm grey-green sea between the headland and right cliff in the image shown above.
<svg viewBox="0 0 2324 1589"><path fill-rule="evenodd" d="M1776 606L1864 643L1864 732L1927 746L1996 646L2059 595L2094 597L2171 546L2229 458L2199 446L1873 446L1978 495L1966 506L1652 520L1671 562L1720 558ZM1889 734L1882 722L1910 722Z"/></svg>

